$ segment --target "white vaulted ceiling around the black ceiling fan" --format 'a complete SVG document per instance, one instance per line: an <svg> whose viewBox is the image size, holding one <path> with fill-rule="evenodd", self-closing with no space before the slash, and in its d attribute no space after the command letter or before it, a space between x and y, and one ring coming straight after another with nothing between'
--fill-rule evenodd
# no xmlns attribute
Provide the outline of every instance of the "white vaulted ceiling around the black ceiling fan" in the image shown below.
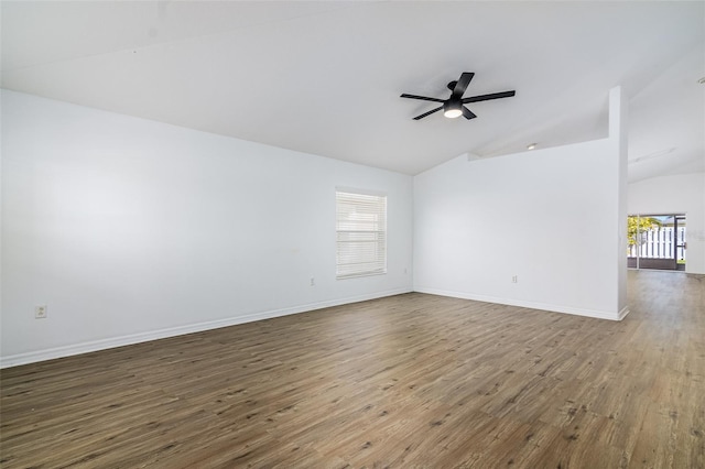
<svg viewBox="0 0 705 469"><path fill-rule="evenodd" d="M629 178L705 171L705 2L2 1L3 88L417 174L604 138ZM465 96L516 89L441 113Z"/></svg>

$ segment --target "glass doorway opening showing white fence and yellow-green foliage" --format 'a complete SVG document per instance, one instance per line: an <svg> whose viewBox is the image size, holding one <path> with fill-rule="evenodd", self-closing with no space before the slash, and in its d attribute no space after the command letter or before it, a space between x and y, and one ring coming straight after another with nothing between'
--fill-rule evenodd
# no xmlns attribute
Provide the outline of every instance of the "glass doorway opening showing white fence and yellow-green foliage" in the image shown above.
<svg viewBox="0 0 705 469"><path fill-rule="evenodd" d="M684 214L630 215L627 217L627 266L685 271L685 234Z"/></svg>

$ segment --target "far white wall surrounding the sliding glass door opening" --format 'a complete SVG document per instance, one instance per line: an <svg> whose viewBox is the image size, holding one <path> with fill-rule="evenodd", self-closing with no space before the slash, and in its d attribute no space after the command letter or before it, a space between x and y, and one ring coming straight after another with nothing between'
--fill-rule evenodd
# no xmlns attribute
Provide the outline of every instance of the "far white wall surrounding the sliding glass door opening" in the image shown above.
<svg viewBox="0 0 705 469"><path fill-rule="evenodd" d="M705 274L705 173L644 179L629 184L629 214L685 214L685 271Z"/></svg>

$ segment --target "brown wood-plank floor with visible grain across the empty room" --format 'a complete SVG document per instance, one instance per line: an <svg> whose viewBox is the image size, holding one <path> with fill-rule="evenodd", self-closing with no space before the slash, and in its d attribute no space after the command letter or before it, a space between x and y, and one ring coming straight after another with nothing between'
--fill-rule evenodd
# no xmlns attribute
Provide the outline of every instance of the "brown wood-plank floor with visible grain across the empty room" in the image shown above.
<svg viewBox="0 0 705 469"><path fill-rule="evenodd" d="M406 294L2 370L3 468L704 468L705 280L621 323Z"/></svg>

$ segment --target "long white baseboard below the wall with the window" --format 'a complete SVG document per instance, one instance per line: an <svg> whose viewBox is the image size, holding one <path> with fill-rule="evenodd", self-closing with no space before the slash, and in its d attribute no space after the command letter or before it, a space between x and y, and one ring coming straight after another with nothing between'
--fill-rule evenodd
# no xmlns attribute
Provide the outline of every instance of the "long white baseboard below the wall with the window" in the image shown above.
<svg viewBox="0 0 705 469"><path fill-rule="evenodd" d="M0 358L0 369L18 367L20 364L35 363L39 361L53 360L56 358L70 357L74 355L88 353L98 350L111 349L115 347L130 346L133 343L147 342L150 340L165 339L167 337L183 336L185 334L202 332L204 330L218 329L220 327L235 326L238 324L252 323L254 320L269 319L272 317L286 316L291 314L305 313L314 309L322 309L332 306L340 306L350 303L365 302L368 299L381 298L384 296L400 295L412 292L411 288L398 288L387 292L371 293L368 295L350 296L347 298L329 299L325 302L311 303L290 308L260 312L245 316L236 316L226 319L210 320L206 323L191 324L186 326L170 327L160 330L132 334L129 336L111 337L108 339L94 340L82 343L72 343L64 347L36 350L25 353L11 355Z"/></svg>

